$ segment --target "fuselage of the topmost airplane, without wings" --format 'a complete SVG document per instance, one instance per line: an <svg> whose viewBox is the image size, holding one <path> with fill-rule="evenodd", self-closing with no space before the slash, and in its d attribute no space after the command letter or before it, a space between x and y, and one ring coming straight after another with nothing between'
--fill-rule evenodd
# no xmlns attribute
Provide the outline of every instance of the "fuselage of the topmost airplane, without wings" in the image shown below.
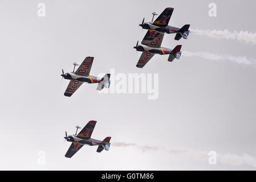
<svg viewBox="0 0 256 182"><path fill-rule="evenodd" d="M166 33L166 34L176 34L180 28L177 27L172 27L172 26L161 26L161 25L156 25L151 22L143 23L140 24L140 26L143 29L147 30L155 30L160 33Z"/></svg>

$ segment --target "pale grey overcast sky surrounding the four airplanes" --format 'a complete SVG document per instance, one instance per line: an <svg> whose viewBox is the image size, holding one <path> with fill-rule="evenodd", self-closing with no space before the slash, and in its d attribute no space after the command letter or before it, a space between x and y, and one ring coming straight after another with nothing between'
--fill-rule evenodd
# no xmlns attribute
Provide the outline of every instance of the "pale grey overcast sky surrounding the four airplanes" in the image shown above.
<svg viewBox="0 0 256 182"><path fill-rule="evenodd" d="M38 3L46 16L37 14ZM208 15L216 3L217 16ZM0 169L256 169L256 68L229 60L155 55L136 68L146 30L138 25L174 11L169 25L193 30L256 32L255 1L0 1ZM163 47L256 58L255 44L190 34ZM91 75L158 73L159 98L147 94L99 94L83 84L65 97L72 63L94 56ZM115 77L112 77L115 79ZM115 86L112 84L111 87ZM112 137L109 151L84 146L71 159L65 131L90 120L92 138ZM115 145L116 143L116 145ZM130 146L120 147L117 143ZM43 151L46 164L38 163ZM208 163L216 151L217 164ZM39 152L39 153L38 153Z"/></svg>

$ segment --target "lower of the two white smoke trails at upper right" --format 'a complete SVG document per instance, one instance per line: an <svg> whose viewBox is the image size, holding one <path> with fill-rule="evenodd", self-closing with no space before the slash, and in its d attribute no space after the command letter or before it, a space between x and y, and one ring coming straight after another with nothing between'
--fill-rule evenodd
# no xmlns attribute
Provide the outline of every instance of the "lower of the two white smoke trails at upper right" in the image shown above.
<svg viewBox="0 0 256 182"><path fill-rule="evenodd" d="M256 65L256 59L248 59L246 56L215 55L209 52L182 51L183 56L196 56L209 60L228 60L239 64Z"/></svg>

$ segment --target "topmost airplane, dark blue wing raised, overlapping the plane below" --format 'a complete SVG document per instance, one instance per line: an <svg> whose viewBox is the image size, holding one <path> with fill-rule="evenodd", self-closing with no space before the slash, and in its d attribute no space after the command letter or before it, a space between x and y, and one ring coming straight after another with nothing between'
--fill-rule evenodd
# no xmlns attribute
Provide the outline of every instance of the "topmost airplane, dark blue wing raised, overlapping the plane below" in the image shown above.
<svg viewBox="0 0 256 182"><path fill-rule="evenodd" d="M152 13L153 14L152 22L144 23L145 18L143 18L143 21L141 24L139 24L139 26L141 26L143 29L155 30L160 33L176 34L174 38L175 40L180 40L181 38L188 39L190 24L185 24L182 28L168 26L170 16L172 16L173 10L174 9L172 7L167 7L153 22L154 16L157 15L154 12Z"/></svg>

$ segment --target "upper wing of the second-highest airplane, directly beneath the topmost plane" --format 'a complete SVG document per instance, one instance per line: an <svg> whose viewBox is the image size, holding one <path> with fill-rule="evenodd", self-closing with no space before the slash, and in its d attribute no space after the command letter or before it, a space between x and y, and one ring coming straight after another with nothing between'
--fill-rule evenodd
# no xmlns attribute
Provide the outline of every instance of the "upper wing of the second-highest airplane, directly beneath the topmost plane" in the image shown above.
<svg viewBox="0 0 256 182"><path fill-rule="evenodd" d="M146 46L161 47L163 38L164 34L157 32L155 30L148 30L147 34L141 41L141 44L144 44Z"/></svg>

